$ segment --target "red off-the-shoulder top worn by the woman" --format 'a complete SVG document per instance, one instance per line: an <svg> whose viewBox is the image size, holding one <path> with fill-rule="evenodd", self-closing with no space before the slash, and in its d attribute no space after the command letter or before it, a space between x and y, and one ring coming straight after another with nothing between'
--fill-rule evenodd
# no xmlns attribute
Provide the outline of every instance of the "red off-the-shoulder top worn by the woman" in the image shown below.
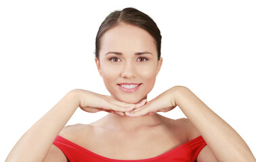
<svg viewBox="0 0 256 162"><path fill-rule="evenodd" d="M158 155L157 157L152 157L148 159L141 160L118 160L118 159L110 159L108 157L102 157L96 153L93 153L78 144L63 138L62 136L57 136L54 140L54 145L58 146L60 150L66 155L70 162L74 161L88 161L88 162L103 162L103 161L114 161L114 162L139 162L139 161L159 161L159 162L169 162L169 161L195 161L196 157L207 145L202 136L198 136L193 140L190 140L176 148L168 151L167 153L163 153L162 155Z"/></svg>

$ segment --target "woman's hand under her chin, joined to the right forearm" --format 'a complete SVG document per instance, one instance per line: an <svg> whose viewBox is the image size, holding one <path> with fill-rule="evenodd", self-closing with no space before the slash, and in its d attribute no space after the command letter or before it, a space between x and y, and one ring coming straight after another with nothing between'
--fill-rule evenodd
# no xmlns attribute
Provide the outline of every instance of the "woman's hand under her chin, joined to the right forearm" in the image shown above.
<svg viewBox="0 0 256 162"><path fill-rule="evenodd" d="M133 109L125 114L129 117L137 117L142 115L153 115L157 112L171 111L177 106L175 103L175 94L178 89L179 86L174 86L146 103L143 107Z"/></svg>

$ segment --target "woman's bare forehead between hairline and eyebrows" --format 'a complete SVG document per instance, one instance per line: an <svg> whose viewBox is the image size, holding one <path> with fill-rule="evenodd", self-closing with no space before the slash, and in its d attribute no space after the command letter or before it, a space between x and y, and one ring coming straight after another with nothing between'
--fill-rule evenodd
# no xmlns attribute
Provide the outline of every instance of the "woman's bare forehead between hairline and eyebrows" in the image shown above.
<svg viewBox="0 0 256 162"><path fill-rule="evenodd" d="M124 23L110 28L102 36L100 53L107 53L108 51L157 53L154 38L146 30Z"/></svg>

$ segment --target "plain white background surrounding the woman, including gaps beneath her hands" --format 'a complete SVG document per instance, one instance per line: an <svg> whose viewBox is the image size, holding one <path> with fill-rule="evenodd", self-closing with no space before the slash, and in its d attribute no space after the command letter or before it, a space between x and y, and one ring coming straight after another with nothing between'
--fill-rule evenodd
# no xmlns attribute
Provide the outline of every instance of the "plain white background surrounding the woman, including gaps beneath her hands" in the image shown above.
<svg viewBox="0 0 256 162"><path fill-rule="evenodd" d="M95 35L115 9L151 16L163 36L163 67L148 99L187 86L256 154L255 1L1 1L0 161L64 94L109 94L94 62ZM161 113L185 117L179 108ZM78 109L67 125L106 115Z"/></svg>

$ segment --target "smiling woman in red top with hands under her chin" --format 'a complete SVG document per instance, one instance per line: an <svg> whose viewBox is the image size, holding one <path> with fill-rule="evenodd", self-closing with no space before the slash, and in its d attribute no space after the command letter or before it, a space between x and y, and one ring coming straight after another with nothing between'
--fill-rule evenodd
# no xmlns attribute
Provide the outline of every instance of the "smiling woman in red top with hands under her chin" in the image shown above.
<svg viewBox="0 0 256 162"><path fill-rule="evenodd" d="M160 30L146 14L114 11L95 45L95 63L111 97L71 90L20 138L6 161L255 161L236 131L188 88L174 86L146 102L163 63ZM188 119L157 114L177 106ZM78 107L108 115L64 127Z"/></svg>

